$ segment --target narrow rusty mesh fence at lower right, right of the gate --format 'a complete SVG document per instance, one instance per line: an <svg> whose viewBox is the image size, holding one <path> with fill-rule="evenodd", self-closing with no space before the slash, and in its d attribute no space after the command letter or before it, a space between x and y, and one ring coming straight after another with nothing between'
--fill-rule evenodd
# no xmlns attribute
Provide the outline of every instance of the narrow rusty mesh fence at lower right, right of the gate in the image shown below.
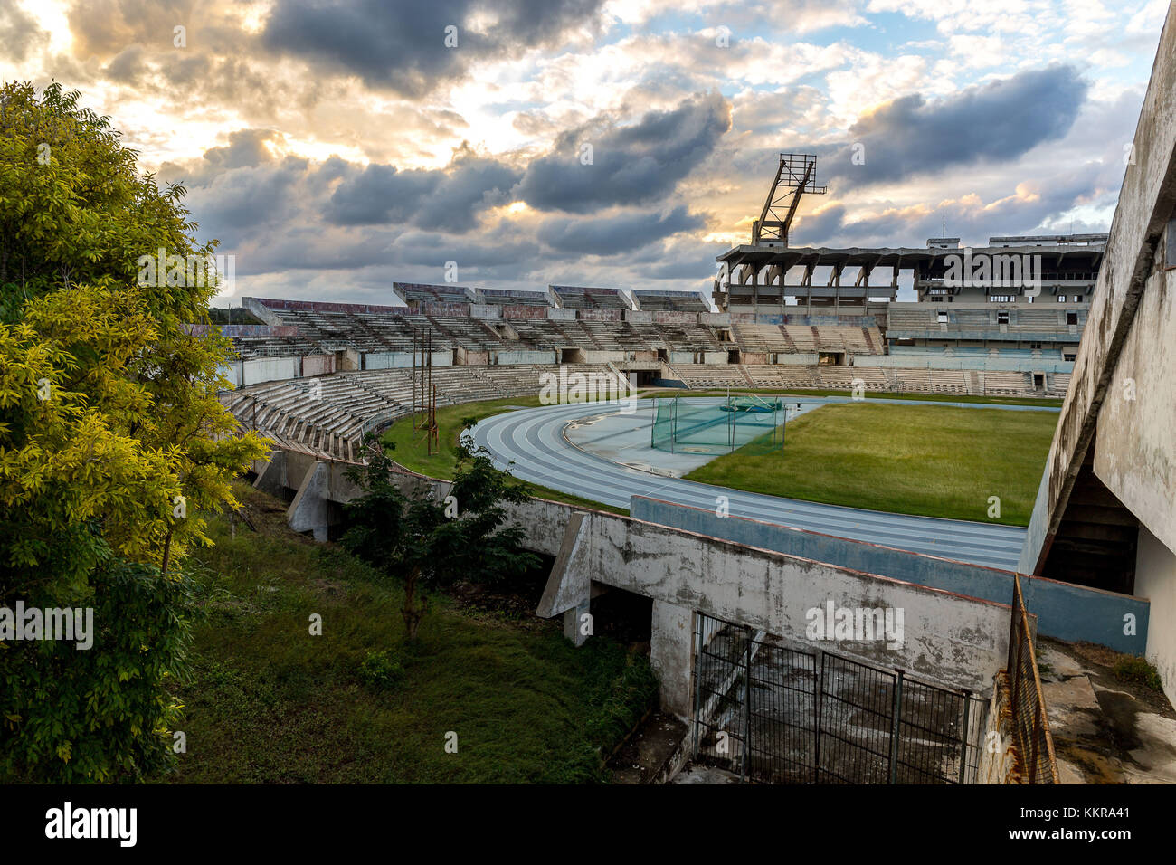
<svg viewBox="0 0 1176 865"><path fill-rule="evenodd" d="M1058 784L1054 737L1049 732L1045 700L1041 694L1037 652L1029 627L1021 578L1013 579L1013 616L1009 627L1009 663L1005 667L1009 708L1013 714L1014 766L1024 784Z"/></svg>

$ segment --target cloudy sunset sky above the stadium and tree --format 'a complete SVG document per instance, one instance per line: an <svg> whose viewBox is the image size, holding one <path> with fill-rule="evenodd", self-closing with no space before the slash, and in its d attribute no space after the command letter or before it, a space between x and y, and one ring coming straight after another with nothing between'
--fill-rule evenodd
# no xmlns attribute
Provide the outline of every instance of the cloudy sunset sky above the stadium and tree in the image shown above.
<svg viewBox="0 0 1176 865"><path fill-rule="evenodd" d="M795 246L1105 231L1167 6L0 0L0 78L182 182L238 297L709 294L781 151L829 187Z"/></svg>

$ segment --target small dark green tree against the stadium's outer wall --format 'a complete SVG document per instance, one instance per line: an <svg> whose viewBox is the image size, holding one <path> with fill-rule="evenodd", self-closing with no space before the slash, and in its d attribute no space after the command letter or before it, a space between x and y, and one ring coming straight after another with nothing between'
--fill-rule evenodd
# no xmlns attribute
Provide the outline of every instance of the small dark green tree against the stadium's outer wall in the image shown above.
<svg viewBox="0 0 1176 865"><path fill-rule="evenodd" d="M522 550L523 527L507 523L506 505L524 501L526 487L497 471L486 448L460 444L456 452L453 486L441 501L423 479L394 472L382 450L375 450L366 466L348 470L365 494L345 507L348 528L342 544L383 573L403 579L401 614L409 640L416 639L427 612L426 590L462 579L499 583L539 564Z"/></svg>

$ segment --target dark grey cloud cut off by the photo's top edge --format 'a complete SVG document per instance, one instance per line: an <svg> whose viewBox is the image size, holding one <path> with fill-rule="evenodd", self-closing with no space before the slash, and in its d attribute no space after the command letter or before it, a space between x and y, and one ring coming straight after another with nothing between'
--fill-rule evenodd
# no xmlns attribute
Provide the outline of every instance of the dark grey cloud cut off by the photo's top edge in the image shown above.
<svg viewBox="0 0 1176 865"><path fill-rule="evenodd" d="M262 33L276 53L320 62L420 97L442 80L462 75L475 59L559 42L572 28L594 25L602 0L282 0ZM472 14L496 20L477 33ZM446 27L457 27L457 47L445 44Z"/></svg>

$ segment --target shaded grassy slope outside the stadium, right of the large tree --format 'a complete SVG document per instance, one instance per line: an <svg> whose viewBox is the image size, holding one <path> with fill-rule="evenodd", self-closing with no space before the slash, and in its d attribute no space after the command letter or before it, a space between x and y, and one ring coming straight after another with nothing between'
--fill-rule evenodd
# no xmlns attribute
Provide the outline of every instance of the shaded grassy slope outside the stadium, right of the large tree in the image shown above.
<svg viewBox="0 0 1176 865"><path fill-rule="evenodd" d="M606 779L602 754L654 694L643 656L604 637L577 650L559 623L467 612L446 597L405 647L395 581L289 531L282 503L238 495L258 533L238 520L233 537L218 518L216 546L193 563L208 617L195 628L195 678L176 686L187 753L175 781ZM400 667L387 687L365 674L381 672L369 658L382 650ZM449 731L457 753L445 750Z"/></svg>

